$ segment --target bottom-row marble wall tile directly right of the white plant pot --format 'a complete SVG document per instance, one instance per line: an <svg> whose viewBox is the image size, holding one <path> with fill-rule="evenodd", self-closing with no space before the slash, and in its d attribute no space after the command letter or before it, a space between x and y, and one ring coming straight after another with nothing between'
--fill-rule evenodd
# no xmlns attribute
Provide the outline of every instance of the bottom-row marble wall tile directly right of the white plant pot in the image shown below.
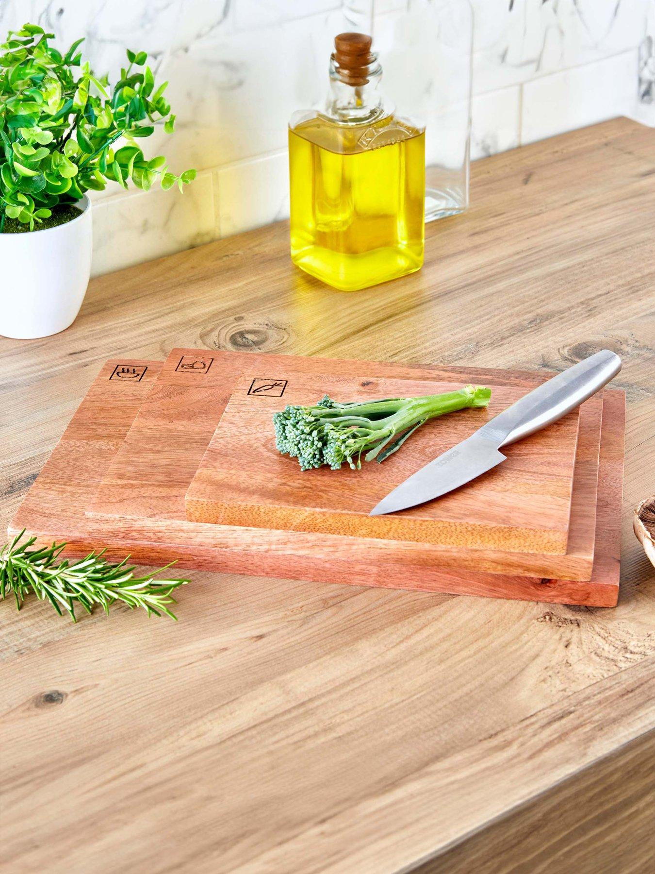
<svg viewBox="0 0 655 874"><path fill-rule="evenodd" d="M93 205L93 276L160 258L215 239L213 179L128 193Z"/></svg>

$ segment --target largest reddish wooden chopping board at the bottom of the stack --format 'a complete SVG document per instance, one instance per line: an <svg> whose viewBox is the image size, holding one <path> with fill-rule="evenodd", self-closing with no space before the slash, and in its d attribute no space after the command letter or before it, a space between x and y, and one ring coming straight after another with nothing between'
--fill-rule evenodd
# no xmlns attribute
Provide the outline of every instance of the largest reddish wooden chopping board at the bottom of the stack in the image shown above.
<svg viewBox="0 0 655 874"><path fill-rule="evenodd" d="M119 365L142 368L141 379L121 382L112 378ZM273 576L321 582L599 607L616 604L623 484L623 392L605 392L596 558L592 579L585 582L445 568L435 562L434 556L426 557L426 550L417 545L408 545L405 551L399 551L398 545L392 544L393 553L390 553L386 541L378 541L375 550L366 551L358 541L349 540L348 551L341 553L342 558L335 558L343 538L298 533L295 543L290 545L288 538L285 542L276 541L280 532L275 531L263 542L262 538L253 539L251 531L187 523L180 518L85 515L84 507L111 467L141 402L151 397L148 388L153 385L161 366L156 362L111 361L103 367L12 520L10 535L26 529L37 535L42 544L67 539L66 554L69 555L107 546L108 554L114 558L122 558L130 552L135 561L146 564L163 564L178 558L181 567L267 572ZM576 464L576 469L578 467ZM316 549L318 541L332 551L329 563L321 561L321 550Z"/></svg>

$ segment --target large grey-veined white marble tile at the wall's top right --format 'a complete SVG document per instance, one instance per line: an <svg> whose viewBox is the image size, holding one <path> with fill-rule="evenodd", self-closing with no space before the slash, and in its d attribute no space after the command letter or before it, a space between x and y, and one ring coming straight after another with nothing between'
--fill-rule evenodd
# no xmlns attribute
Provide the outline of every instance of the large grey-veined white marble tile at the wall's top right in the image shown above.
<svg viewBox="0 0 655 874"><path fill-rule="evenodd" d="M473 0L476 94L636 47L649 0Z"/></svg>

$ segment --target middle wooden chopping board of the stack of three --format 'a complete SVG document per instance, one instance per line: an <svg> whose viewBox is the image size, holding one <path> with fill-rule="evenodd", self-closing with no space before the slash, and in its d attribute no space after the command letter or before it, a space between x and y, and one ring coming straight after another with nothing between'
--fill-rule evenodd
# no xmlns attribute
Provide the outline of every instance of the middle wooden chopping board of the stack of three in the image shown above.
<svg viewBox="0 0 655 874"><path fill-rule="evenodd" d="M132 520L130 526L137 524L137 519L184 518L184 495L203 459L204 450L215 432L231 390L242 377L243 371L257 367L266 369L269 374L272 369L279 370L280 373L282 369L291 372L298 360L286 356L173 350L162 367L153 391L149 393L134 425L129 429L125 444L104 476L89 515L98 519L129 518ZM523 392L548 378L516 371L463 371L461 368L375 364L321 358L300 361L303 367L314 366L319 374L325 373L326 367L331 366L337 377L344 378L354 365L364 371L367 379L372 380L381 378L382 371L390 366L398 372L399 378L414 380L417 375L432 380L462 378L465 372L473 381L483 383L493 375L496 382ZM409 541L376 540L368 543L363 538L356 544L350 540L348 548L352 550L356 545L362 561L383 562L391 560L391 557L398 557L399 560L409 561L413 567L421 568L422 573L428 573L427 568L438 566L460 571L509 572L541 578L590 579L594 553L598 429L602 403L602 394L599 393L582 407L581 414L587 423L586 427L590 428L590 434L583 440L581 452L576 459L578 488L576 499L572 503L575 515L570 526L569 549L565 554L494 549L472 551L459 546L417 545ZM463 413L465 411L454 415ZM147 524L144 523L144 526L143 531L146 531ZM236 542L236 527L225 527L222 531L231 531L231 542ZM217 538L220 536L215 535ZM300 532L294 532L294 544L298 542L298 538ZM242 544L247 545L254 539L252 535L241 531L239 540ZM288 534L282 532L273 538L269 532L265 539L261 535L257 539L270 551L276 551L271 557L271 565L274 565L277 551L285 548Z"/></svg>

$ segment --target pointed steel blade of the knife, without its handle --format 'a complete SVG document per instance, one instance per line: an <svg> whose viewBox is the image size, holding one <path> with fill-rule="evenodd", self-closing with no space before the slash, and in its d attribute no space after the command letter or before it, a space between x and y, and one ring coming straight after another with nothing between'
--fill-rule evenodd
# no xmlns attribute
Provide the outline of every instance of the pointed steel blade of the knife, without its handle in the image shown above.
<svg viewBox="0 0 655 874"><path fill-rule="evenodd" d="M476 432L401 482L389 495L383 497L370 511L370 515L395 513L396 510L406 510L417 503L441 497L476 476L485 474L506 458L493 441L486 440Z"/></svg>

